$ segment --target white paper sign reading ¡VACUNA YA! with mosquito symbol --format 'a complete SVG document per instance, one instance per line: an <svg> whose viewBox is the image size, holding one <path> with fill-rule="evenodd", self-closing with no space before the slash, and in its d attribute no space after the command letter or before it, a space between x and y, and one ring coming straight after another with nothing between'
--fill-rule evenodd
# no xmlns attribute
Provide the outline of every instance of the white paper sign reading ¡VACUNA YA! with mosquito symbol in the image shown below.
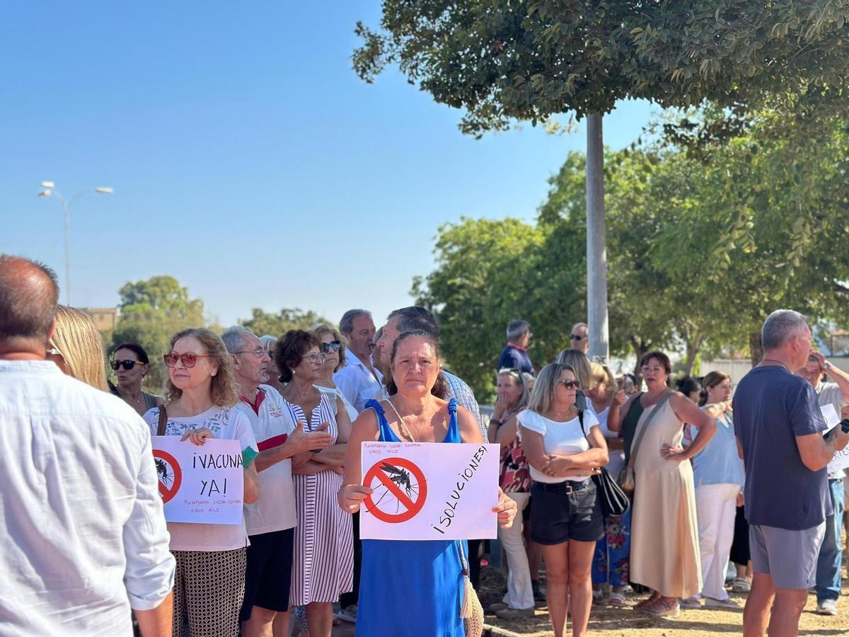
<svg viewBox="0 0 849 637"><path fill-rule="evenodd" d="M238 440L154 436L156 476L169 522L241 524L245 475Z"/></svg>

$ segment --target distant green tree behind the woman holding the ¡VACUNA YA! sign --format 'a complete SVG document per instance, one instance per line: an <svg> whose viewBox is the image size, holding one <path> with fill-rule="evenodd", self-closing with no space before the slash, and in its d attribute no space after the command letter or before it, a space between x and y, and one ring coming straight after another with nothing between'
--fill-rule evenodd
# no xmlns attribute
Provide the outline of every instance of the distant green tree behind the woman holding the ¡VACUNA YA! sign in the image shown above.
<svg viewBox="0 0 849 637"><path fill-rule="evenodd" d="M204 304L190 298L188 289L170 276L127 283L118 294L121 315L112 332L111 347L122 342L144 347L150 358L144 386L148 391L162 392L168 379L162 355L168 351L171 336L189 327L203 327Z"/></svg>

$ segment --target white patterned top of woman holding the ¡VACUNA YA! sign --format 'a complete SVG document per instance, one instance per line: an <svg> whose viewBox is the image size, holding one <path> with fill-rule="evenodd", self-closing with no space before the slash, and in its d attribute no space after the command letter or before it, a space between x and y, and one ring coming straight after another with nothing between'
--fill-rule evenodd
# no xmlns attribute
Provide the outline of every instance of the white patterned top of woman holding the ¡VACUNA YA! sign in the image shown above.
<svg viewBox="0 0 849 637"><path fill-rule="evenodd" d="M143 415L147 420L152 434L159 429L159 410L155 407ZM167 409L166 409L167 411ZM234 407L218 407L207 409L203 414L172 418L168 416L165 428L166 436L183 437L187 431L207 427L212 435L223 440L238 440L242 453L245 449L256 450L254 432L250 428L250 420L240 409ZM183 444L194 444L189 440ZM247 464L247 461L245 461ZM248 533L245 529L245 516L241 524L194 524L192 522L168 522L168 533L171 533L171 550L233 550L248 545Z"/></svg>

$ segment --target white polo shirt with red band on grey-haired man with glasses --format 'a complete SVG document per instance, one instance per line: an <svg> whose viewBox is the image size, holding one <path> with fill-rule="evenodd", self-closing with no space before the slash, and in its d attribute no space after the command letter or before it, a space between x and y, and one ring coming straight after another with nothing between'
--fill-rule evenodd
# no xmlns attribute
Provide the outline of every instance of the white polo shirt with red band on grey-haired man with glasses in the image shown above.
<svg viewBox="0 0 849 637"><path fill-rule="evenodd" d="M295 431L295 422L284 408L283 397L270 385L261 385L265 397L259 414L244 400L236 407L248 417L260 453L284 444L290 433ZM257 395L259 400L259 395ZM245 505L245 527L248 535L272 533L295 527L298 515L295 512L295 485L292 482L292 459L275 462L257 474L260 479L260 497L256 502Z"/></svg>

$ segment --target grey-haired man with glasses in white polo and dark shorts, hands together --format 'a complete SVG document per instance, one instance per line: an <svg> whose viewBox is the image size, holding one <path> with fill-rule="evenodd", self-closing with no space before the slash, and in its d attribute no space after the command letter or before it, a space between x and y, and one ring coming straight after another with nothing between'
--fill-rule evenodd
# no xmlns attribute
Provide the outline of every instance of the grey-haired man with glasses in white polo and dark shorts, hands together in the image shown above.
<svg viewBox="0 0 849 637"><path fill-rule="evenodd" d="M295 465L309 459L311 449L326 448L333 437L326 431L304 431L304 423L292 421L284 399L270 385L271 361L262 342L247 330L233 328L222 334L233 358L233 378L239 386L240 409L250 420L259 455L256 456L260 497L245 505L245 525L250 546L245 569L245 601L239 619L242 637L272 637L274 618L278 630L289 634L289 593L295 539ZM326 426L325 426L326 428Z"/></svg>

